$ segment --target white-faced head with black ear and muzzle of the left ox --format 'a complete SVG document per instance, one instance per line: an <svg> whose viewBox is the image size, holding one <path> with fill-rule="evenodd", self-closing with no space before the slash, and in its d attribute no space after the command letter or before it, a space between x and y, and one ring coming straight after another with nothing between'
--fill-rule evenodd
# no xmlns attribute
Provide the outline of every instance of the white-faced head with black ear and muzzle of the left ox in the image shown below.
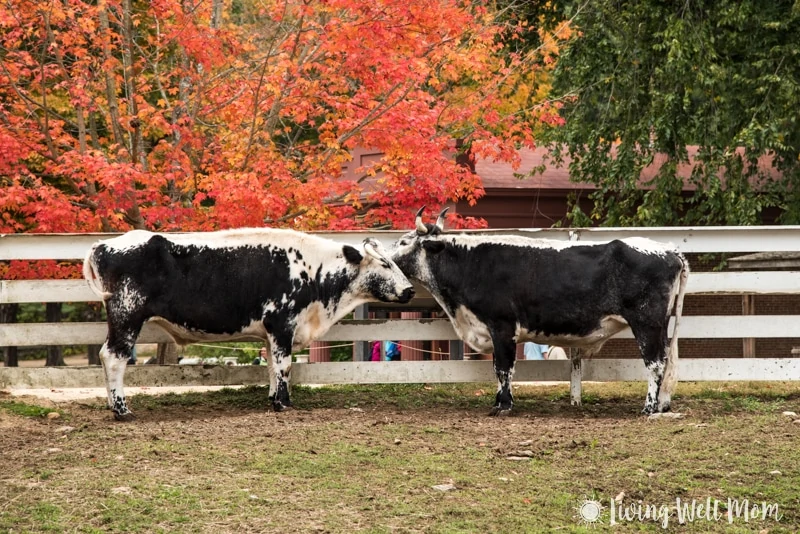
<svg viewBox="0 0 800 534"><path fill-rule="evenodd" d="M406 303L414 297L414 286L380 241L369 237L361 247L345 245L342 251L347 262L358 267L355 283L370 300Z"/></svg>

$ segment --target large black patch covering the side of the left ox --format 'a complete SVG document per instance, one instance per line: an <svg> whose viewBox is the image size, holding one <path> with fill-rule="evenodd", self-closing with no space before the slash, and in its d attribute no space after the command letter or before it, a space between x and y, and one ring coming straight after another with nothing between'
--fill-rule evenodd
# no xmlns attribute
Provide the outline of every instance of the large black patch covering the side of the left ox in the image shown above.
<svg viewBox="0 0 800 534"><path fill-rule="evenodd" d="M178 327L170 333L179 343L263 339L262 319L269 329L312 300L325 307L339 302L354 278L345 270L323 275L322 266L316 265L312 280L303 254L291 246L216 249L174 243L161 235L136 248L101 244L94 259L105 287L117 299L113 305L135 314L131 321L160 318ZM292 264L304 267L294 277ZM293 305L276 305L265 316L266 304L281 302Z"/></svg>

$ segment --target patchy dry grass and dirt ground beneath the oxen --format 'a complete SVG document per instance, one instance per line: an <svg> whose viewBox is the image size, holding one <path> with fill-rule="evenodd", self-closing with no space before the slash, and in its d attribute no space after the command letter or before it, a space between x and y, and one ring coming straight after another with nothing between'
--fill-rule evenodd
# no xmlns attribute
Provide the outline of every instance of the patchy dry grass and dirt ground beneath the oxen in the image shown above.
<svg viewBox="0 0 800 534"><path fill-rule="evenodd" d="M681 384L686 417L662 421L639 415L643 384L587 386L582 408L566 386L521 388L508 419L486 417L492 389L297 388L283 414L265 411L264 388L137 396L133 424L99 404L47 419L56 407L0 397L0 532L662 531L611 525L621 492L634 507L779 505L780 521L732 524L679 526L673 510L669 531L800 525L800 424L782 415L800 412L794 384ZM586 499L605 507L589 526Z"/></svg>

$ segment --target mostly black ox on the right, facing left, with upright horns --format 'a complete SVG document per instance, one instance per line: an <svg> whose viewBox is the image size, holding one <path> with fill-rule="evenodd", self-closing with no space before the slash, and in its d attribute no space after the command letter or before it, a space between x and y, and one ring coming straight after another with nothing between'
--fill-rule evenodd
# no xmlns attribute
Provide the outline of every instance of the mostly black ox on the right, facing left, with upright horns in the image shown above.
<svg viewBox="0 0 800 534"><path fill-rule="evenodd" d="M674 247L644 238L578 243L447 234L446 211L423 224L419 210L416 230L393 245L392 259L431 292L464 342L494 354L491 415L511 412L517 343L580 347L591 356L626 327L650 372L644 412L669 410L689 275Z"/></svg>

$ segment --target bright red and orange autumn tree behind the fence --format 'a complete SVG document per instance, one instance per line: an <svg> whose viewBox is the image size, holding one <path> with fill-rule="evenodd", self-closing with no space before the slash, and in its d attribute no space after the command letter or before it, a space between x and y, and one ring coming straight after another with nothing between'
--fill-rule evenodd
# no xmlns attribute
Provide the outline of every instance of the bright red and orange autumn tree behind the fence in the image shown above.
<svg viewBox="0 0 800 534"><path fill-rule="evenodd" d="M474 201L456 141L513 160L555 116L503 102L534 68L503 53L520 31L455 0L9 0L0 232L400 226ZM357 146L384 156L347 181Z"/></svg>

